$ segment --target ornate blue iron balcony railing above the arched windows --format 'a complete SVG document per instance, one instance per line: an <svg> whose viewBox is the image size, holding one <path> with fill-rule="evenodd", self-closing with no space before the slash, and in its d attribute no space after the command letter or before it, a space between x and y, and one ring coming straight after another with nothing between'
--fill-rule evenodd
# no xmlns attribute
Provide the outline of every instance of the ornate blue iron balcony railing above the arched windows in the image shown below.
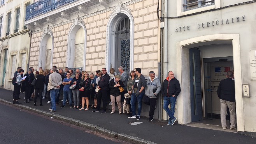
<svg viewBox="0 0 256 144"><path fill-rule="evenodd" d="M77 0L39 0L26 7L26 21Z"/></svg>

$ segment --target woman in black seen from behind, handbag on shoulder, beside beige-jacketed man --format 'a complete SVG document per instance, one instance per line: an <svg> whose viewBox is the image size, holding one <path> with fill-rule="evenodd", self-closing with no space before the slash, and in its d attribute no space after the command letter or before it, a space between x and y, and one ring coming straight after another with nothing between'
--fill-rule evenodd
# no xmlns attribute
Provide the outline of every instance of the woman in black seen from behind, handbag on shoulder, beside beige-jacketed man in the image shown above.
<svg viewBox="0 0 256 144"><path fill-rule="evenodd" d="M39 101L40 101L40 105L42 106L42 93L44 90L44 81L45 81L45 76L44 74L44 70L40 69L39 71L39 75L37 75L36 79L36 83L35 83L35 97L34 97L34 106L37 105L37 97L38 97L38 93L39 93Z"/></svg>

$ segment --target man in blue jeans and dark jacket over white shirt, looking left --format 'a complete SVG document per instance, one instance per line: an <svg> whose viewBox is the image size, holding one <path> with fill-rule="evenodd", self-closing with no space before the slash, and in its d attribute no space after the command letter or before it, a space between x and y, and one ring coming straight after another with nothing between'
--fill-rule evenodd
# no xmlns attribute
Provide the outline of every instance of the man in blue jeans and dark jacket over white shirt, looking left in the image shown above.
<svg viewBox="0 0 256 144"><path fill-rule="evenodd" d="M140 119L140 112L142 106L142 98L145 94L145 87L147 86L146 79L144 75L141 74L140 68L135 68L135 82L133 83L133 90L131 95L131 107L132 107L132 115L128 116L128 118L136 118ZM138 102L138 113L136 115L136 101Z"/></svg>

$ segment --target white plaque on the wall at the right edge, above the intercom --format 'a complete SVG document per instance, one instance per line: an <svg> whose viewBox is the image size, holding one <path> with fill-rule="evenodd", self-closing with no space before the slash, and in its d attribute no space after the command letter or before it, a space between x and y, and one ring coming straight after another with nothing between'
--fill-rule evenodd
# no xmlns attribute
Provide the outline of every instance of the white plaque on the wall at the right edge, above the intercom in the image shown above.
<svg viewBox="0 0 256 144"><path fill-rule="evenodd" d="M249 50L251 80L256 80L256 50Z"/></svg>

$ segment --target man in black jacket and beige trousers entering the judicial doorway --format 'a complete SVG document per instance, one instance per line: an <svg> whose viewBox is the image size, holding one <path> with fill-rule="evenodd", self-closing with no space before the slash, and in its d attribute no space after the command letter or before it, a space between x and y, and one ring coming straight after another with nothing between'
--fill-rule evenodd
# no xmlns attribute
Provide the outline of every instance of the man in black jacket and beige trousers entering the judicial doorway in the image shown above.
<svg viewBox="0 0 256 144"><path fill-rule="evenodd" d="M221 126L225 130L227 107L230 111L230 129L235 129L235 81L232 80L233 72L228 71L226 79L219 83L217 94L221 101Z"/></svg>

